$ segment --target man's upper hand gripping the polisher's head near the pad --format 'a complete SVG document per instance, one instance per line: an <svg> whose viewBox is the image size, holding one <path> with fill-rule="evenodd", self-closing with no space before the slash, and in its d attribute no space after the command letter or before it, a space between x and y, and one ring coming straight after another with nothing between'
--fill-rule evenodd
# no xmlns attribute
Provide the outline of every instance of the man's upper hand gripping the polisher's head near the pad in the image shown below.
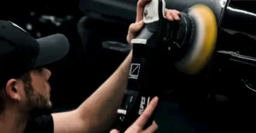
<svg viewBox="0 0 256 133"><path fill-rule="evenodd" d="M136 36L137 31L143 28L143 9L144 6L149 2L151 2L151 0L139 0L137 3L136 22L130 25L126 37L129 44L131 44L131 40ZM166 9L166 19L170 21L179 20L179 12L175 9Z"/></svg>

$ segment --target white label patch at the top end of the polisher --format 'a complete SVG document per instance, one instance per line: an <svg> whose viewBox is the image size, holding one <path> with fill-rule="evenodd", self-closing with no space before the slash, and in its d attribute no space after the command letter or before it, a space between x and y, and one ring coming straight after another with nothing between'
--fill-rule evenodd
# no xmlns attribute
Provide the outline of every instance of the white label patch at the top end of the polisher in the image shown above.
<svg viewBox="0 0 256 133"><path fill-rule="evenodd" d="M154 21L159 20L158 1L159 0L152 0L151 3L146 4L144 8L144 13L143 13L144 23L152 23Z"/></svg>

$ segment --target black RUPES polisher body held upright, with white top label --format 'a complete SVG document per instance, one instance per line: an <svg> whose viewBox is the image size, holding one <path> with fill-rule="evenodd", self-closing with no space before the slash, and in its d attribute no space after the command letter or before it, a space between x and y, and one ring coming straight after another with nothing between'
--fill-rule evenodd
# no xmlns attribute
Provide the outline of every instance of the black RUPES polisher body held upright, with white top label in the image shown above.
<svg viewBox="0 0 256 133"><path fill-rule="evenodd" d="M158 84L155 81L156 64L159 58L156 53L163 39L162 31L166 30L165 0L152 0L143 12L144 26L138 36L131 40L133 53L128 80L128 93L119 108L120 131L125 131L136 119L143 114L148 103L157 96ZM159 66L159 65L158 65ZM144 126L152 124L154 113Z"/></svg>

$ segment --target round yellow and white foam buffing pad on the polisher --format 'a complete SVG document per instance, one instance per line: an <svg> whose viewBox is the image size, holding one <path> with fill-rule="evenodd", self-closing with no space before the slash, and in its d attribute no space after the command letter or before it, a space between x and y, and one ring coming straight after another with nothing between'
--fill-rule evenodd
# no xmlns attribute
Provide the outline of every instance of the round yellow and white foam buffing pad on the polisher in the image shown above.
<svg viewBox="0 0 256 133"><path fill-rule="evenodd" d="M192 19L191 41L183 58L174 65L187 75L195 75L205 68L215 49L217 39L217 20L212 10L205 5L189 8Z"/></svg>

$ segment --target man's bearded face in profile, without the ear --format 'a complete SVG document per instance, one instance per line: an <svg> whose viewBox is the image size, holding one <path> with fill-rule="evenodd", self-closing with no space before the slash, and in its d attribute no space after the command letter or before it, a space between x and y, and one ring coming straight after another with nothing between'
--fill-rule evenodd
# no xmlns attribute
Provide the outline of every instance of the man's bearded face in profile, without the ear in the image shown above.
<svg viewBox="0 0 256 133"><path fill-rule="evenodd" d="M49 110L52 104L50 98L49 69L34 69L29 75L24 75L21 80L24 83L26 96L26 108L33 114L40 114Z"/></svg>

